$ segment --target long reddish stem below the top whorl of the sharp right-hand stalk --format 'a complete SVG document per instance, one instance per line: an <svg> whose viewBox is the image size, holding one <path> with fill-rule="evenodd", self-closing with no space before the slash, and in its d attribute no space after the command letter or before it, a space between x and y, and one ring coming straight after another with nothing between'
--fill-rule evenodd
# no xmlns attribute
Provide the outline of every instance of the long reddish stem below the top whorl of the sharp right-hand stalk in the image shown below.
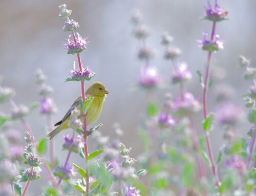
<svg viewBox="0 0 256 196"><path fill-rule="evenodd" d="M210 37L211 41L213 41L213 39L214 39L215 30L216 30L216 21L214 21L213 24L212 24L212 31L211 31L211 37ZM210 75L211 54L212 54L212 52L209 51L208 52L208 58L207 58L207 67L206 67L206 71L205 71L205 78L204 78L204 89L203 89L203 113L204 113L204 119L207 118L207 89L208 89L209 75ZM217 169L216 169L214 156L212 155L212 148L211 148L209 132L206 133L205 139L206 139L206 143L207 143L208 155L209 155L210 162L211 162L211 170L212 170L212 173L214 174L214 177L215 177L215 180L216 180L216 185L219 188L221 183L220 183L218 172L217 172Z"/></svg>

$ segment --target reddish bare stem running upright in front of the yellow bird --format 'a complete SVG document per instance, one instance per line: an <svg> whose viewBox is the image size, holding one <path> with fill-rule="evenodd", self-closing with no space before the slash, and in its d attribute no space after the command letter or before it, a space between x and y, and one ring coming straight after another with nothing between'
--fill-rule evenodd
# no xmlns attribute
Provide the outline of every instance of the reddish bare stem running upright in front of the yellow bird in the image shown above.
<svg viewBox="0 0 256 196"><path fill-rule="evenodd" d="M74 39L74 42L76 43L76 36L74 31L72 31L72 36ZM77 54L77 60L78 60L78 65L79 65L79 70L82 72L82 63L81 63L81 57L80 54ZM86 102L86 94L84 93L84 82L81 81L81 92L82 92L82 103ZM83 138L84 138L84 155L86 157L86 195L89 195L89 169L88 169L88 144L87 144L87 123L86 123L86 114L83 113Z"/></svg>

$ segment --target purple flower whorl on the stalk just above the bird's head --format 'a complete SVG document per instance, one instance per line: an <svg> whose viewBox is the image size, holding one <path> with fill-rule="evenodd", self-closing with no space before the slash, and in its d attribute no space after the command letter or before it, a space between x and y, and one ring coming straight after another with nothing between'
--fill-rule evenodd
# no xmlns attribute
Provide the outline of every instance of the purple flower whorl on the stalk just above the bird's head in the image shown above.
<svg viewBox="0 0 256 196"><path fill-rule="evenodd" d="M76 66L74 62L74 69L70 70L70 78L66 79L66 81L90 80L95 75L97 74L92 72L89 67L82 68L82 72L80 70L76 70Z"/></svg>

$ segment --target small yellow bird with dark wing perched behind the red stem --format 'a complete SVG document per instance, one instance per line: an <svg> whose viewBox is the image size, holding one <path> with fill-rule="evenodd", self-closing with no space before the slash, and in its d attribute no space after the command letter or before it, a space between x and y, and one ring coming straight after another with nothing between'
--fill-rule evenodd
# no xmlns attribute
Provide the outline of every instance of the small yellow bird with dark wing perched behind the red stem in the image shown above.
<svg viewBox="0 0 256 196"><path fill-rule="evenodd" d="M87 111L87 125L90 125L91 123L95 122L102 110L102 105L104 103L106 95L109 94L109 91L106 90L105 86L101 82L94 82L86 91L86 97L93 97L93 101L88 108ZM47 135L50 139L52 139L55 135L57 135L61 130L65 130L69 128L68 122L70 119L70 115L74 108L77 108L78 111L80 111L80 116L79 119L83 121L83 116L82 116L82 108L80 107L79 104L80 97L78 97L74 103L71 105L69 108L68 112L66 115L54 126L59 125L57 128L55 128L51 133Z"/></svg>

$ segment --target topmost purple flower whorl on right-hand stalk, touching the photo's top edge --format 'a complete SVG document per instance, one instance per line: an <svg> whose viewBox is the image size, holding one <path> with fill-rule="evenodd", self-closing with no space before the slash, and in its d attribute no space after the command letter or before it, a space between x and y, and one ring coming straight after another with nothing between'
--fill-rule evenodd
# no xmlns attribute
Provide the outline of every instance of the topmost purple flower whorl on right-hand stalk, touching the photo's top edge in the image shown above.
<svg viewBox="0 0 256 196"><path fill-rule="evenodd" d="M210 2L208 0L208 8L205 8L205 16L204 19L208 19L211 21L221 21L228 19L227 18L228 11L223 11L220 5L215 1L215 7L212 9Z"/></svg>

